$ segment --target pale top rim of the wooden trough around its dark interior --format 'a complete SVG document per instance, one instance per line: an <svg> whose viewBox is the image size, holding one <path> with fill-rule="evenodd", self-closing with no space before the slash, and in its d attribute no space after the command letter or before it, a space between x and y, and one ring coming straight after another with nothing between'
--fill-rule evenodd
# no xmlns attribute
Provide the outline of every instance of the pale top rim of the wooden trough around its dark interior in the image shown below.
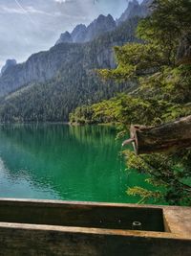
<svg viewBox="0 0 191 256"><path fill-rule="evenodd" d="M77 233L92 233L105 235L122 235L122 236L138 236L138 237L162 237L162 238L179 238L191 240L191 207L179 206L160 206L160 205L138 205L138 204L124 204L124 203L99 203L99 202L82 202L82 201L57 201L57 200L39 200L39 199L16 199L16 198L0 198L0 206L10 206L20 204L20 206L32 205L32 207L72 207L72 208L92 208L92 207L111 207L111 208L142 208L142 209L156 209L162 211L163 223L165 232L153 231L132 231L132 230L116 230L104 228L88 228L88 227L74 227L74 226L55 226L55 225L34 225L28 223L8 223L0 222L0 228L30 228L41 230L54 230L60 232L77 232ZM93 208L94 209L94 208ZM112 210L112 209L111 209ZM168 233L169 232L169 233Z"/></svg>

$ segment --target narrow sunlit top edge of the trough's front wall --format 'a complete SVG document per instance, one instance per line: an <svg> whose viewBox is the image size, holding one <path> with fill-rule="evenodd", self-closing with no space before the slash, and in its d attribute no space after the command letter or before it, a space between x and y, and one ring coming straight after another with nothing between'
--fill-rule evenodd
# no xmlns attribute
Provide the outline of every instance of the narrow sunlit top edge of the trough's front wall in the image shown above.
<svg viewBox="0 0 191 256"><path fill-rule="evenodd" d="M182 237L180 234L153 232L153 231L136 231L136 230L120 230L120 229L102 229L102 228L87 228L75 226L55 226L55 225L37 225L26 223L11 223L0 222L1 229L19 229L28 231L50 231L60 233L73 234L90 234L90 235L105 235L105 236L122 236L122 237L139 237L139 238L163 238L163 239L179 239L191 241L191 238Z"/></svg>

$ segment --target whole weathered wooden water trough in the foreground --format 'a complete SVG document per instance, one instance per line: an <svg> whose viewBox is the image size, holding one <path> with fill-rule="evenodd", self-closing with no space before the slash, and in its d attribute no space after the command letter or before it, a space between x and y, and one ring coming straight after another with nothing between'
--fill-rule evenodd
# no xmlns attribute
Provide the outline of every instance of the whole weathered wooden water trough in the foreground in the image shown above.
<svg viewBox="0 0 191 256"><path fill-rule="evenodd" d="M0 255L190 256L191 208L2 198Z"/></svg>

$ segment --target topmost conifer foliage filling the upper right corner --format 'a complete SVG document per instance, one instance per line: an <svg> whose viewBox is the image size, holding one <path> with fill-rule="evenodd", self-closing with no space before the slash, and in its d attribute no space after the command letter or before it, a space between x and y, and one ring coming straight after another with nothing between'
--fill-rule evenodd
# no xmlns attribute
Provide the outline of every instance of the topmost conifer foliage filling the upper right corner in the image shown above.
<svg viewBox="0 0 191 256"><path fill-rule="evenodd" d="M160 53L168 59L168 65L175 63L177 46L181 36L190 31L190 0L154 0L152 15L138 25L138 36L158 45Z"/></svg>

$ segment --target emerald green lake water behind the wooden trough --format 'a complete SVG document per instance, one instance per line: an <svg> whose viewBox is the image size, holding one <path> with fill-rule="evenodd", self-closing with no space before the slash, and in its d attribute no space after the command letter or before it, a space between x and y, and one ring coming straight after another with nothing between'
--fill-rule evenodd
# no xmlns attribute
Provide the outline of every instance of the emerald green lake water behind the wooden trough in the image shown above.
<svg viewBox="0 0 191 256"><path fill-rule="evenodd" d="M0 198L138 202L128 187L148 187L125 171L110 127L61 124L0 127Z"/></svg>

